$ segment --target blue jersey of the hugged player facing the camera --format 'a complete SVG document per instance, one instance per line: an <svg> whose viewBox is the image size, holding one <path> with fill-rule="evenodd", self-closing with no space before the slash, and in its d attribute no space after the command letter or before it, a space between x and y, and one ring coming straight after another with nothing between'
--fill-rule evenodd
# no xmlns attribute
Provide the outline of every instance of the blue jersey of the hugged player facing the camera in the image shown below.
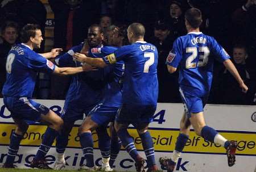
<svg viewBox="0 0 256 172"><path fill-rule="evenodd" d="M55 60L60 66L82 66L81 62L73 60L73 54L80 52L84 43L72 47L67 53L63 54ZM90 48L90 57L105 57L113 53L115 48L98 47ZM73 104L74 107L81 107L84 104L91 106L96 102L100 102L104 96L104 88L106 85L105 76L109 73L109 69L98 69L91 72L83 72L73 75L71 85L65 101Z"/></svg>

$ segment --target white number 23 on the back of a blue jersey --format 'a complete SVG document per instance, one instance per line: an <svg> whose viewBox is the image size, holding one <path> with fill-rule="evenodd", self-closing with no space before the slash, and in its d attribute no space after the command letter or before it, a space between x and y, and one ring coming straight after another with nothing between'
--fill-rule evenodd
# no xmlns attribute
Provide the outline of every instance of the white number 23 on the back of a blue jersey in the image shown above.
<svg viewBox="0 0 256 172"><path fill-rule="evenodd" d="M203 54L199 54L199 61L192 62L198 56L197 47L188 47L186 48L186 53L192 53L186 60L186 68L196 68L197 66L205 66L208 62L208 56L210 54L210 50L208 47L198 47L198 52L203 52Z"/></svg>

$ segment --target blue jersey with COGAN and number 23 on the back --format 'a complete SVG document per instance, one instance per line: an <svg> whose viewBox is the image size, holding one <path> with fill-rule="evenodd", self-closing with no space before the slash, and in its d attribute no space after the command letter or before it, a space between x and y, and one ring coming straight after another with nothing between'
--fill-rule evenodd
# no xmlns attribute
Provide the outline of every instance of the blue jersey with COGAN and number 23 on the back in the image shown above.
<svg viewBox="0 0 256 172"><path fill-rule="evenodd" d="M208 95L212 83L213 62L230 58L224 48L202 32L189 32L174 41L167 57L167 65L179 66L179 84L189 94Z"/></svg>

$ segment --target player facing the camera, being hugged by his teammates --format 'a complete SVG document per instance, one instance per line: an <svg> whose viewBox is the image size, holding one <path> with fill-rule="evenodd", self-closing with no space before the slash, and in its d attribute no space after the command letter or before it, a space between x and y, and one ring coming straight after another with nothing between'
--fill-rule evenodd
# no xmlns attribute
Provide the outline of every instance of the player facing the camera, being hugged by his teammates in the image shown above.
<svg viewBox="0 0 256 172"><path fill-rule="evenodd" d="M85 51L86 48L88 48L87 51L92 57L103 57L115 51L115 48L103 46L102 40L104 37L101 28L96 24L89 27L87 38L86 43L72 47L67 53L56 58L56 64L59 66L82 66L81 62L74 61L72 56L76 52ZM64 121L61 134L56 135L57 133L51 128L47 128L46 133L47 135L51 135L51 138L47 140L43 138L42 144L34 160L31 162L31 167L42 167L40 163L44 160L56 136L57 160L53 169L60 170L65 167L64 152L68 145L68 136L73 124L76 120L82 120L84 114L88 115L88 113L93 110L93 107L102 101L104 97L103 88L106 84L104 75L108 74L109 71L105 69L95 69L89 65L84 66L86 66L87 69L86 73L74 75L71 85L69 86L61 113L61 118ZM101 140L101 138L105 138L104 136L108 135L108 133L106 130L101 130L100 134L99 142L105 142L105 140Z"/></svg>

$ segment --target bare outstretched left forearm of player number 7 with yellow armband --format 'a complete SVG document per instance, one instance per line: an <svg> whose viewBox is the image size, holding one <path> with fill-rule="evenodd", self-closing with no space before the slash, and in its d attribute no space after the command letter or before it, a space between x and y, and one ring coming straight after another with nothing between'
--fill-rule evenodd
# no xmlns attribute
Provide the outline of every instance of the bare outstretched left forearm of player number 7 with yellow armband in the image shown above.
<svg viewBox="0 0 256 172"><path fill-rule="evenodd" d="M105 68L108 64L102 58L87 57L85 54L75 53L73 56L77 61L85 62L86 64L96 66L98 68Z"/></svg>

